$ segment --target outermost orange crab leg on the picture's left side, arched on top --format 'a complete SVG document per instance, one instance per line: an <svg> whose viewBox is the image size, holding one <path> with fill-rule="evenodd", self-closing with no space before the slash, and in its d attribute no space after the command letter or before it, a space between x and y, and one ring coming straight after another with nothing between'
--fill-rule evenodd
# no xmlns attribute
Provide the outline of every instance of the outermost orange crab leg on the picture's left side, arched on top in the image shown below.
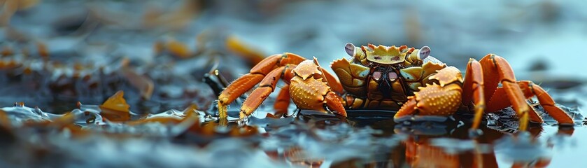
<svg viewBox="0 0 587 168"><path fill-rule="evenodd" d="M306 60L304 57L286 52L282 55L271 55L262 62L259 62L253 69L250 69L249 73L234 80L234 82L230 83L220 93L220 96L218 96L218 112L220 118L227 118L226 106L232 103L234 99L255 87L257 83L267 76L267 73L285 64L299 64L299 62L304 60Z"/></svg>

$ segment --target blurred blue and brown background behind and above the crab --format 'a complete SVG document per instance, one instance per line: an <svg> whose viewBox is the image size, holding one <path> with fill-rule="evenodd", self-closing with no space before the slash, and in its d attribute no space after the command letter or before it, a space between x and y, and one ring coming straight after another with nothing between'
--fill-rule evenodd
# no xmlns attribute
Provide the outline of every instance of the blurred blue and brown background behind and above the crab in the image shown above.
<svg viewBox="0 0 587 168"><path fill-rule="evenodd" d="M98 104L125 90L134 97L129 102L142 106L134 111L194 102L206 109L214 96L201 78L215 63L233 80L259 55L294 52L327 65L348 57L347 42L428 45L434 57L460 69L469 58L495 53L518 79L555 89L587 78L580 51L587 46L587 12L579 0L0 3L1 92L11 95L3 105L27 102L60 111L59 104Z"/></svg>

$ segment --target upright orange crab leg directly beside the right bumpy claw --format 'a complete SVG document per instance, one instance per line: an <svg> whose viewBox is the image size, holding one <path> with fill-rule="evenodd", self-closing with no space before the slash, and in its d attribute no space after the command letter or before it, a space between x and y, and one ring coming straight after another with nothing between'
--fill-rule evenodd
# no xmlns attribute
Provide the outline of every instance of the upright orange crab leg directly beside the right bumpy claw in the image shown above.
<svg viewBox="0 0 587 168"><path fill-rule="evenodd" d="M471 130L476 130L481 123L483 111L485 111L485 92L483 91L483 69L481 63L475 59L469 59L465 81L462 83L462 104L474 106L475 118Z"/></svg>

